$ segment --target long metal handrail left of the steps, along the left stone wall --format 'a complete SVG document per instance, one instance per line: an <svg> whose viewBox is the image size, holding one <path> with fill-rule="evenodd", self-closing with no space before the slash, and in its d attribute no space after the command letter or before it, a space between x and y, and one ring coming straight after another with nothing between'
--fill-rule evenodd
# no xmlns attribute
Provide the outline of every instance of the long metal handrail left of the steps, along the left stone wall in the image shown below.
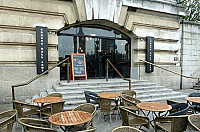
<svg viewBox="0 0 200 132"><path fill-rule="evenodd" d="M36 79L40 78L41 76L43 76L44 74L46 74L47 72L51 71L52 69L54 69L55 67L57 67L58 65L62 64L63 62L67 61L67 82L69 83L69 57L65 58L64 60L60 61L59 63L57 63L55 66L51 67L50 69L46 70L45 72L37 75L36 77L32 78L31 80L25 82L25 83L20 83L20 84L16 84L16 85L12 85L12 100L15 100L15 88L16 87L20 87L20 86L25 86L30 84L31 82L35 81ZM15 108L14 104L13 104L13 109Z"/></svg>

